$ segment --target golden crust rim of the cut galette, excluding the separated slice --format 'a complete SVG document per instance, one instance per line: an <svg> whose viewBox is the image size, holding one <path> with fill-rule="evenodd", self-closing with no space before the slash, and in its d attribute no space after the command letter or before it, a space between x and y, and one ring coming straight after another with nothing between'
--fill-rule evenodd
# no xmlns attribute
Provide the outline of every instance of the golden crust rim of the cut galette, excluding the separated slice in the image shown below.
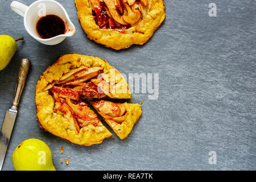
<svg viewBox="0 0 256 182"><path fill-rule="evenodd" d="M36 85L35 104L36 116L40 127L58 137L67 139L72 143L90 146L92 144L101 143L103 139L110 137L112 134L99 121L97 126L88 125L81 127L79 133L72 129L70 119L64 117L63 114L56 112L55 98L50 94L49 90L53 88L52 83L64 79L63 76L69 76L69 73L77 71L79 68L101 68L102 77L108 82L111 70L114 68L105 60L99 57L84 55L64 55L60 57L51 67L43 73ZM115 82L113 83L118 90L118 85L126 86L126 93L109 93L111 98L130 98L129 86L125 79L116 69L114 69Z"/></svg>

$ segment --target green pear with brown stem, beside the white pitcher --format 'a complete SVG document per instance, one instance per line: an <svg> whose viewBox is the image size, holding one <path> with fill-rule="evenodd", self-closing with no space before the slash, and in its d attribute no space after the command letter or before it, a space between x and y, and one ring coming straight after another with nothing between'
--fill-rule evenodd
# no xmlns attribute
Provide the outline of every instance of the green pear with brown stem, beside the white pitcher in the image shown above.
<svg viewBox="0 0 256 182"><path fill-rule="evenodd" d="M9 35L0 35L0 71L10 63L17 49L16 41L23 38L13 39Z"/></svg>

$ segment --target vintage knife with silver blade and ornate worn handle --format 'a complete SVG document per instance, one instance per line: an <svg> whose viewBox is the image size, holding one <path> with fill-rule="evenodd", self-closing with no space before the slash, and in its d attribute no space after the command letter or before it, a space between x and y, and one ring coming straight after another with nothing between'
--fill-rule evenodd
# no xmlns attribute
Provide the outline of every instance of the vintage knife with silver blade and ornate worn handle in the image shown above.
<svg viewBox="0 0 256 182"><path fill-rule="evenodd" d="M30 60L22 59L19 65L19 74L16 82L13 102L11 108L6 111L5 119L3 120L3 125L0 133L0 170L2 170L3 167L3 160L5 160L6 150L11 138L11 132L13 131L15 118L18 113L19 99L25 85L29 68Z"/></svg>

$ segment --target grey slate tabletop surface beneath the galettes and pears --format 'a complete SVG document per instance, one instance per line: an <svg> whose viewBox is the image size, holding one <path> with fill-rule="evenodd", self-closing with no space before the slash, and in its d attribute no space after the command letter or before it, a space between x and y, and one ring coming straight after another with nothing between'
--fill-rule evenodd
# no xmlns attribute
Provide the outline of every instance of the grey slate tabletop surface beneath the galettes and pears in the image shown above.
<svg viewBox="0 0 256 182"><path fill-rule="evenodd" d="M72 0L59 2L76 34L56 46L36 42L24 29L23 18L10 9L11 1L0 2L0 34L24 37L11 63L0 72L0 125L13 99L20 59L32 62L4 170L14 170L11 155L28 138L48 144L57 170L256 169L254 0L166 0L166 20L148 43L122 51L86 38ZM216 17L208 15L212 2L217 5ZM131 102L143 101L143 115L125 140L113 136L85 147L38 127L36 82L66 53L100 56L125 74L159 73L158 100L148 100L147 94L132 95ZM216 165L208 163L209 151L216 151ZM60 164L68 155L69 165Z"/></svg>

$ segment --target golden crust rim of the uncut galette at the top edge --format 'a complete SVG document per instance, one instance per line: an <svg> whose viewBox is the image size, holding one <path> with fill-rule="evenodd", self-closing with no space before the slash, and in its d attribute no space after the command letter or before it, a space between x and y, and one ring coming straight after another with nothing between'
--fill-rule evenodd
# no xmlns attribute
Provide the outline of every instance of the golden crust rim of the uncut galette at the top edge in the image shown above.
<svg viewBox="0 0 256 182"><path fill-rule="evenodd" d="M94 19L90 1L75 0L82 28L89 39L117 50L128 48L133 44L146 43L166 16L163 0L147 0L146 6L141 5L143 9L141 18L135 24L131 24L127 30L103 29L97 25Z"/></svg>

